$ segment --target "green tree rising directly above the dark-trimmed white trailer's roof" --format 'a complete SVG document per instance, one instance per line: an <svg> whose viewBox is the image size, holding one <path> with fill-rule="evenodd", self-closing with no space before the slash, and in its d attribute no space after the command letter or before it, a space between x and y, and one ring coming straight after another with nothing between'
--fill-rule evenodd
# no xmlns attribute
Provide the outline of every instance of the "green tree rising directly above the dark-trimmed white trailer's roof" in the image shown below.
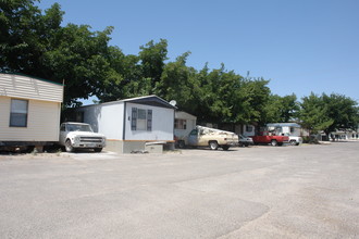
<svg viewBox="0 0 359 239"><path fill-rule="evenodd" d="M124 55L119 48L109 47L110 66L116 74L113 74L113 79L104 79L98 98L103 102L158 92L156 86L165 67L166 47L164 39L160 42L151 40L139 48L138 55Z"/></svg>

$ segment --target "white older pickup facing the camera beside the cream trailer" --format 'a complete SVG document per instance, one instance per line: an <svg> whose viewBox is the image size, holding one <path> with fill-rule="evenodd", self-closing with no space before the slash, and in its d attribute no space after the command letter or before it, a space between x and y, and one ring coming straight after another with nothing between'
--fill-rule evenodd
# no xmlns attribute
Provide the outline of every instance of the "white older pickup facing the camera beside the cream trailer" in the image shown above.
<svg viewBox="0 0 359 239"><path fill-rule="evenodd" d="M76 149L94 149L95 152L101 152L106 147L106 137L94 133L91 126L85 123L62 123L59 141L65 147L66 152L73 152Z"/></svg>

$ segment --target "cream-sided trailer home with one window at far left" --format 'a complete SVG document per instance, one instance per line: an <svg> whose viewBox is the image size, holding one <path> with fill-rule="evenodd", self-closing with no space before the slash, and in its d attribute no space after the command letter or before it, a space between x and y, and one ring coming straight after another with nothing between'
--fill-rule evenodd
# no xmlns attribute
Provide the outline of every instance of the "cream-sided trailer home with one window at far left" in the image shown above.
<svg viewBox="0 0 359 239"><path fill-rule="evenodd" d="M59 141L63 85L21 74L0 74L0 147L39 150Z"/></svg>

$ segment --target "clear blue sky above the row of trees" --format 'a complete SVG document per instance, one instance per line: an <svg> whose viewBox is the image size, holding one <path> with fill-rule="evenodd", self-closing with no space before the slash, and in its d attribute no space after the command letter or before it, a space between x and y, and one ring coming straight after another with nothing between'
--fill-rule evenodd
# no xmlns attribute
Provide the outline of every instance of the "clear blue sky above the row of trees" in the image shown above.
<svg viewBox="0 0 359 239"><path fill-rule="evenodd" d="M163 38L187 65L271 79L273 93L341 93L359 101L358 0L42 0L59 2L63 24L114 26L125 54Z"/></svg>

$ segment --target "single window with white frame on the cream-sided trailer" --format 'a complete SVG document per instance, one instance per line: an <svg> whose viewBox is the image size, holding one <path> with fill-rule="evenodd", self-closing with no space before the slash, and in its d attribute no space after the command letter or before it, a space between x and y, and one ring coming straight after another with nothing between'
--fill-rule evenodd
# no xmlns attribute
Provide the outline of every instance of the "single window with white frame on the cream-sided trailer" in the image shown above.
<svg viewBox="0 0 359 239"><path fill-rule="evenodd" d="M10 127L27 127L28 100L11 100Z"/></svg>

